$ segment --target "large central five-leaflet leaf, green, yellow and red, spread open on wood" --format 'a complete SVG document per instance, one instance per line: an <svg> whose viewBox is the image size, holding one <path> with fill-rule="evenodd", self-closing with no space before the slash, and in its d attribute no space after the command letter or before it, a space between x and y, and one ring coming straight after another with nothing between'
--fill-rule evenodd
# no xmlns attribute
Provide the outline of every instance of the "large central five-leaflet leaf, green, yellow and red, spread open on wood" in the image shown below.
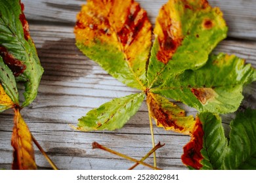
<svg viewBox="0 0 256 183"><path fill-rule="evenodd" d="M203 136L199 118L186 116L169 98L199 112L224 114L240 106L243 87L256 80L256 71L245 65L244 59L211 54L227 31L221 10L205 0L169 0L163 5L156 19L153 45L147 14L132 0L89 0L77 14L74 28L76 45L83 54L146 95L152 146L151 118L166 130L193 132L190 146ZM134 96L140 99L125 108L126 100ZM142 98L140 93L105 103L80 118L77 129L119 129L139 110ZM200 143L196 146L192 152L196 156L194 166L200 169L198 162L203 156ZM156 167L156 161L154 164Z"/></svg>

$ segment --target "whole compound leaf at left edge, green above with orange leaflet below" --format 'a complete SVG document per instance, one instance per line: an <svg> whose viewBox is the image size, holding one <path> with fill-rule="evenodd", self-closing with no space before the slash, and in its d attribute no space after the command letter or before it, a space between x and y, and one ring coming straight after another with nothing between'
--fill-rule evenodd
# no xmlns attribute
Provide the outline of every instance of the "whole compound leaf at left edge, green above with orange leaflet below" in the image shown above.
<svg viewBox="0 0 256 183"><path fill-rule="evenodd" d="M24 5L19 0L0 1L0 112L12 108L15 113L12 169L37 169L32 135L20 110L35 99L43 68L23 10ZM22 105L16 86L20 81L25 86Z"/></svg>

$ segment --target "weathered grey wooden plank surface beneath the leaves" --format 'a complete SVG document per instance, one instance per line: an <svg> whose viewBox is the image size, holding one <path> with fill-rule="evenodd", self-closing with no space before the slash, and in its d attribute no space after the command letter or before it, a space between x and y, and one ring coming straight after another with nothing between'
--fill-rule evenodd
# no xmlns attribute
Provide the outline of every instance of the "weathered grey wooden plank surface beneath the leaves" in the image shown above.
<svg viewBox="0 0 256 183"><path fill-rule="evenodd" d="M154 23L158 9L165 0L139 2ZM256 1L209 2L221 7L230 27L228 39L221 42L214 52L236 54L255 67ZM30 107L22 110L32 134L60 169L129 168L133 163L108 152L93 150L91 143L97 141L140 159L152 146L145 103L125 127L117 131L83 133L74 131L68 125L77 124L78 118L102 103L137 92L117 82L77 50L73 26L75 14L85 1L26 0L23 3L33 41L45 69L37 98ZM244 106L255 108L255 93L255 83L245 88ZM188 114L196 114L193 108L181 103L178 105ZM0 169L11 169L12 118L11 110L0 114ZM156 127L154 131L156 142L165 143L157 152L158 167L186 169L182 165L181 154L182 146L190 137ZM35 154L37 165L41 169L49 169L49 164L36 147ZM152 158L146 162L152 163ZM137 169L147 168L139 166Z"/></svg>

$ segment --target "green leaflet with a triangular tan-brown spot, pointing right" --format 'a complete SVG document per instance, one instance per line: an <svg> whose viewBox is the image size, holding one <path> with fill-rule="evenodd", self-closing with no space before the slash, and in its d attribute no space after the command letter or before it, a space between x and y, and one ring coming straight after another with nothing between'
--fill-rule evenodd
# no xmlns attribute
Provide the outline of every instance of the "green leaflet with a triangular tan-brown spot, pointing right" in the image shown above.
<svg viewBox="0 0 256 183"><path fill-rule="evenodd" d="M236 56L211 55L196 71L187 70L169 78L151 92L160 93L199 111L234 112L239 107L244 84L255 80L255 69Z"/></svg>

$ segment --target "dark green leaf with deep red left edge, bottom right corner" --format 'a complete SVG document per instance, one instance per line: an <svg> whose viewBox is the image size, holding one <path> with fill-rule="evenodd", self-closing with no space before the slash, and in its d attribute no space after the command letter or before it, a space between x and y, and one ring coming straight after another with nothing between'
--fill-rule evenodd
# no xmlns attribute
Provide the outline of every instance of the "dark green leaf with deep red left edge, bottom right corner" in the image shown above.
<svg viewBox="0 0 256 183"><path fill-rule="evenodd" d="M194 169L255 169L255 119L256 110L239 112L226 139L217 114L199 114L192 139L184 146L183 163Z"/></svg>

